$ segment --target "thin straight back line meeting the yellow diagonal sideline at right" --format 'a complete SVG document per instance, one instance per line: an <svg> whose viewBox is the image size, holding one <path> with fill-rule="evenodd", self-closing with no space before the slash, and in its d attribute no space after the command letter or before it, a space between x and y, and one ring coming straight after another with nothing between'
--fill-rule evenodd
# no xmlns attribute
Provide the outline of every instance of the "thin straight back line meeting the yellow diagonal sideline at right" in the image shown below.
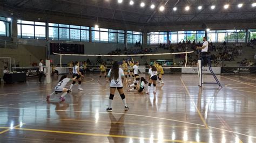
<svg viewBox="0 0 256 143"><path fill-rule="evenodd" d="M3 117L3 116L0 116ZM20 116L6 116L6 117L20 117ZM28 117L31 118L31 117ZM78 120L78 119L58 119L58 118L41 118L37 117L37 119L50 119L50 120L70 120L70 121L84 121L84 122L93 122L96 120ZM129 122L120 122L120 121L97 121L98 123L115 123L115 124L131 124L131 125L142 125L142 126L156 126L156 124L143 124L143 123L129 123ZM178 128L197 128L197 129L206 129L205 127L184 127L184 126L170 126L170 125L157 125L158 127L178 127ZM0 127L1 128L1 127Z"/></svg>

